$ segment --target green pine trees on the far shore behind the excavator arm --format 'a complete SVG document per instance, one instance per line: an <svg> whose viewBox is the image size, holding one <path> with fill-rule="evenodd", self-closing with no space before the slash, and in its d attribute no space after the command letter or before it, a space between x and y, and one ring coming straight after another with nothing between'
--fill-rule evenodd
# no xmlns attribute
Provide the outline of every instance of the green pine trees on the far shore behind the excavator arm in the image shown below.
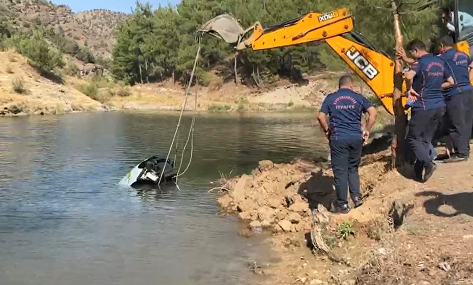
<svg viewBox="0 0 473 285"><path fill-rule="evenodd" d="M403 33L406 40L428 40L437 35L440 2L425 7L428 0L404 4ZM196 52L195 32L209 19L230 13L244 28L254 21L263 27L296 18L311 10L331 11L347 7L355 18L355 29L380 50L393 55L393 19L387 0L182 0L175 8L138 4L125 23L119 25L113 51L112 72L131 84L167 78L187 80ZM209 71L218 71L222 81L234 80L232 47L206 36L202 41L198 82L211 81ZM303 74L340 70L345 65L326 45L290 46L267 51L245 50L238 56L238 73L246 85L261 86L281 77L301 80Z"/></svg>

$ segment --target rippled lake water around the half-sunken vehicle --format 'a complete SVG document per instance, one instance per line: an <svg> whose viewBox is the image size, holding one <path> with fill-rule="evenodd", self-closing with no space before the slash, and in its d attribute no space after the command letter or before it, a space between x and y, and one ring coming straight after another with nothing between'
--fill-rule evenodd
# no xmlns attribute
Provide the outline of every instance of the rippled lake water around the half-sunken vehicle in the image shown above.
<svg viewBox="0 0 473 285"><path fill-rule="evenodd" d="M326 156L325 138L312 114L201 115L180 190L118 187L141 160L166 156L178 115L1 118L0 284L249 284L246 260L264 249L217 214L210 181L263 159Z"/></svg>

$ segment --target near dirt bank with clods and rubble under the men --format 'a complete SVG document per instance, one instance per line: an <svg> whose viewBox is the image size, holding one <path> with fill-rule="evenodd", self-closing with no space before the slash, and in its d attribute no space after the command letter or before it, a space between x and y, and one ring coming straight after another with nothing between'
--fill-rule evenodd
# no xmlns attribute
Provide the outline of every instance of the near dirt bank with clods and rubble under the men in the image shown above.
<svg viewBox="0 0 473 285"><path fill-rule="evenodd" d="M304 160L261 161L252 174L224 181L218 204L245 222L242 234L272 232L280 262L254 271L268 284L473 284L473 191L465 179L473 162L440 165L421 184L389 170L389 160L389 151L364 156L365 202L349 214L325 210L332 172Z"/></svg>

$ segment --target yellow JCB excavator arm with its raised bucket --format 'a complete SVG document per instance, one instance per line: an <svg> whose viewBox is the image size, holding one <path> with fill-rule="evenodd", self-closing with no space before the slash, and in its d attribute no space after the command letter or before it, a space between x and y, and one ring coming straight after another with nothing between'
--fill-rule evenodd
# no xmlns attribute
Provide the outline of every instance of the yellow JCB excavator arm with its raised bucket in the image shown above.
<svg viewBox="0 0 473 285"><path fill-rule="evenodd" d="M199 31L235 45L237 52L250 47L264 50L324 40L376 94L386 111L394 115L394 61L353 31L353 18L346 8L328 13L309 12L272 27L263 28L256 22L246 30L232 16L224 14L202 25ZM251 36L244 39L250 31L253 31ZM345 35L350 35L353 40ZM457 46L469 54L468 45L458 43ZM403 94L405 90L404 82ZM407 98L403 97L402 101L404 106Z"/></svg>

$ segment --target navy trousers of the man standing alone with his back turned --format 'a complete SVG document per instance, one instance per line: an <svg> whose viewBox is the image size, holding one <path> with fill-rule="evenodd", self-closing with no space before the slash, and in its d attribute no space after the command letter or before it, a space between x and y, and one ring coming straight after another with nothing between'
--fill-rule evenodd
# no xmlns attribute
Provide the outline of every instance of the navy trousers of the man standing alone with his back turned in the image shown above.
<svg viewBox="0 0 473 285"><path fill-rule="evenodd" d="M333 184L337 193L337 205L348 204L347 194L350 197L359 197L358 166L361 159L363 140L331 140L330 156L332 160Z"/></svg>

